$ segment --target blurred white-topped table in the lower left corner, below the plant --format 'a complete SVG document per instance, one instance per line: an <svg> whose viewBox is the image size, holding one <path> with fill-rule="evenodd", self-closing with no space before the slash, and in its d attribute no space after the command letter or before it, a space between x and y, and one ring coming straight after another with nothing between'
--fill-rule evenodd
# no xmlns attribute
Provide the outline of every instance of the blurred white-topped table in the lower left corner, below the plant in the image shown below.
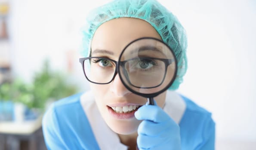
<svg viewBox="0 0 256 150"><path fill-rule="evenodd" d="M0 150L47 150L42 117L21 122L0 122Z"/></svg>

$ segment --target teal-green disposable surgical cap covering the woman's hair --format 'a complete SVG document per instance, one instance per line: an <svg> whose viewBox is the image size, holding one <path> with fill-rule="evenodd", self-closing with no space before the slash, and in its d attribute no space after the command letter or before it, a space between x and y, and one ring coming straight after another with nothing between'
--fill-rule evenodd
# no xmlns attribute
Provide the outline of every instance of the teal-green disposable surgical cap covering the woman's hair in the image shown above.
<svg viewBox="0 0 256 150"><path fill-rule="evenodd" d="M178 19L157 0L113 0L93 9L82 28L83 43L81 54L89 57L93 35L97 28L114 18L139 18L151 24L161 36L163 42L173 49L178 61L177 76L169 90L176 90L183 81L187 70L187 37Z"/></svg>

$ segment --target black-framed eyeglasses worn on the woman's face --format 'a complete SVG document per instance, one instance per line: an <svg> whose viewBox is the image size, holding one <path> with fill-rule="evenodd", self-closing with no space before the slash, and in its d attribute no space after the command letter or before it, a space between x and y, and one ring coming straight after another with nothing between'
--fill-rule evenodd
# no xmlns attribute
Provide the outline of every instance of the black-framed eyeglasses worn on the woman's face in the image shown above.
<svg viewBox="0 0 256 150"><path fill-rule="evenodd" d="M118 70L126 81L137 88L154 88L163 83L167 67L174 59L155 57L135 57L124 61L115 61L106 57L84 57L82 65L86 79L94 84L109 84L114 80ZM117 67L117 66L120 67ZM152 79L157 79L152 81ZM145 84L151 81L151 84Z"/></svg>

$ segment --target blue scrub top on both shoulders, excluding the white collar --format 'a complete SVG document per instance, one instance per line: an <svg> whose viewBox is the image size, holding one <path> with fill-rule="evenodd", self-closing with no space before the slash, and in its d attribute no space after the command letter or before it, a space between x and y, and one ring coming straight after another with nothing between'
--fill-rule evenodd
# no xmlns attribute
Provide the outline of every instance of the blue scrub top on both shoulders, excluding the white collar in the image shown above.
<svg viewBox="0 0 256 150"><path fill-rule="evenodd" d="M100 150L80 103L81 95L54 102L44 114L43 135L48 150ZM214 150L215 123L211 113L181 97L186 105L179 121L182 150Z"/></svg>

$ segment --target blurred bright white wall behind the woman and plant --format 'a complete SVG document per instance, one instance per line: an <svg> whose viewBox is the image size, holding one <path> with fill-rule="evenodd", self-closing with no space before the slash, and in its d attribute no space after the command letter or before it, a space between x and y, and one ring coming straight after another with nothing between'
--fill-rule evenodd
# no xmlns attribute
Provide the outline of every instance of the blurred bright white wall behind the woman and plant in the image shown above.
<svg viewBox="0 0 256 150"><path fill-rule="evenodd" d="M53 70L68 75L80 91L89 90L78 62L80 28L86 13L107 1L9 0L9 51L0 54L8 58L12 77L30 82L49 57ZM188 35L188 72L178 92L212 112L217 149L253 150L256 1L159 1L179 18Z"/></svg>

